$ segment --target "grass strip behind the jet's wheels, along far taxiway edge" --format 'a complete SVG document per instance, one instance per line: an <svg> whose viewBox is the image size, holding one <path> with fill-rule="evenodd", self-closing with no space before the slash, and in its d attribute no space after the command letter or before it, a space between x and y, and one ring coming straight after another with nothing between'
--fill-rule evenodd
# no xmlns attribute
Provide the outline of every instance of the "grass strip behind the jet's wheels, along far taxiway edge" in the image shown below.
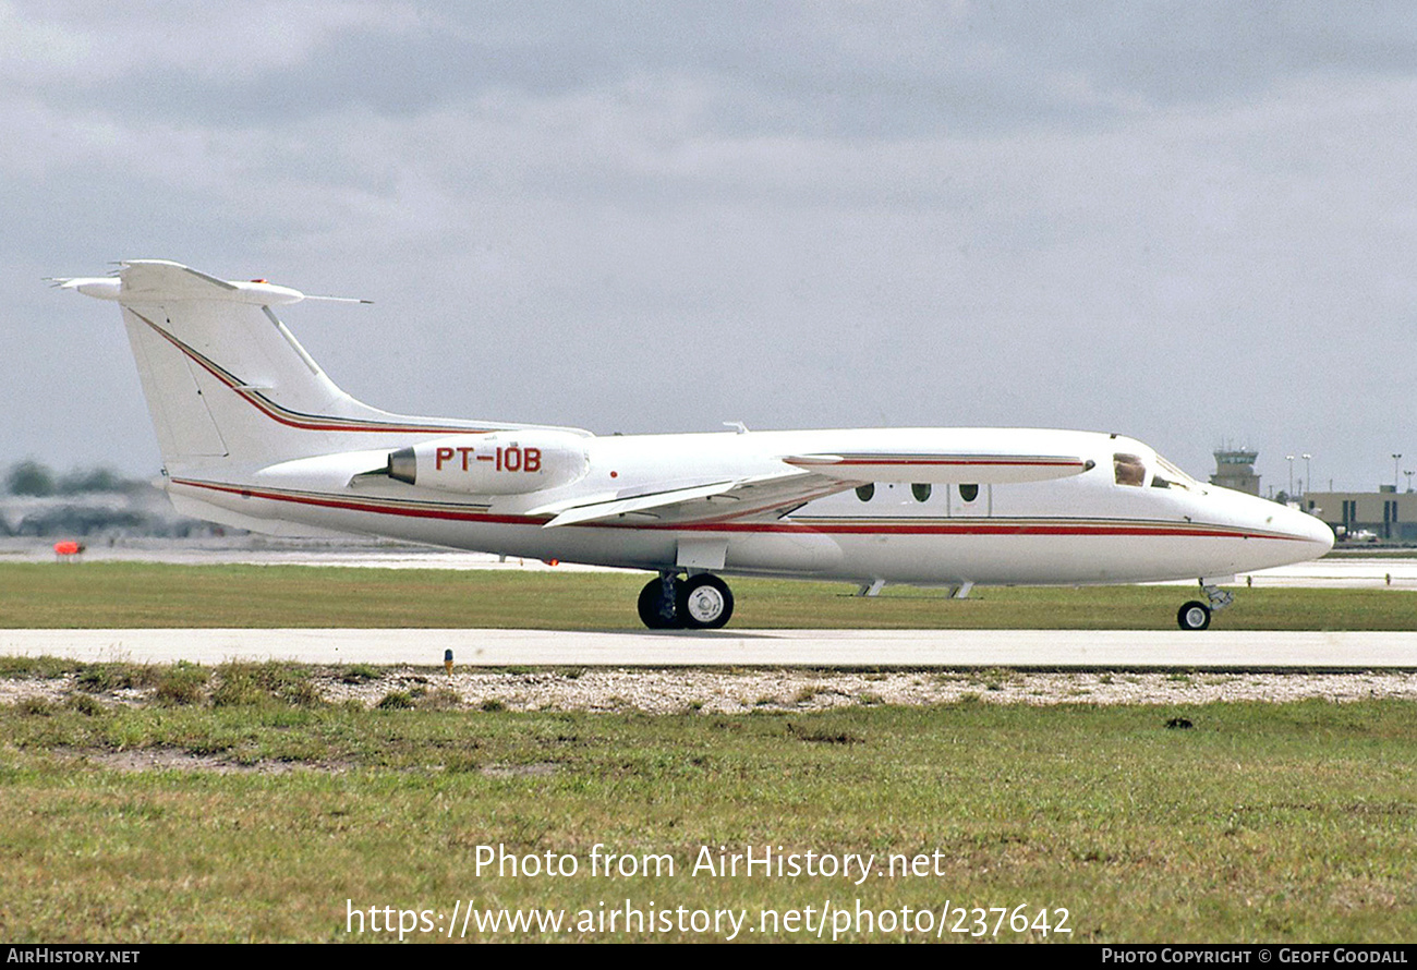
<svg viewBox="0 0 1417 970"><path fill-rule="evenodd" d="M632 574L329 566L0 564L3 627L638 629ZM734 579L744 629L1173 629L1185 586L983 588L853 596L846 583ZM1233 630L1413 630L1417 593L1240 589Z"/></svg>

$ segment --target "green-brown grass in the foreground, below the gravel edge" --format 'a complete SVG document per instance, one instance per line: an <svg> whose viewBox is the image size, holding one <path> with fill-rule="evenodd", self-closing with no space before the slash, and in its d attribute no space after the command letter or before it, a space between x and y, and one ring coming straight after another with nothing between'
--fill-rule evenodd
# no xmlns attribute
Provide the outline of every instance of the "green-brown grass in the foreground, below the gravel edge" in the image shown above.
<svg viewBox="0 0 1417 970"><path fill-rule="evenodd" d="M649 718L330 707L295 687L298 668L225 675L245 687L224 700L0 707L0 936L343 940L363 922L356 939L397 939L373 932L374 906L380 926L408 911L410 937L432 942L468 899L479 913L568 920L473 923L469 939L730 933L598 923L626 906L731 911L738 939L813 937L811 925L774 930L764 915L809 906L818 918L894 913L890 930L833 916L826 939L833 926L849 939L934 939L941 922L942 939L971 939L976 908L1019 906L1026 923L1041 912L1073 932L995 929L990 912L982 935L1417 936L1411 704ZM1173 718L1193 726L1168 728ZM157 768L113 768L129 752L160 755ZM214 756L225 768L200 760ZM704 847L711 860L765 847L799 861L870 855L873 875L694 872ZM551 852L577 871L479 874L479 852L503 850ZM636 871L591 875L597 851ZM928 861L890 874L893 854ZM646 857L667 860L646 875ZM931 911L932 929L920 912L901 923L903 908Z"/></svg>

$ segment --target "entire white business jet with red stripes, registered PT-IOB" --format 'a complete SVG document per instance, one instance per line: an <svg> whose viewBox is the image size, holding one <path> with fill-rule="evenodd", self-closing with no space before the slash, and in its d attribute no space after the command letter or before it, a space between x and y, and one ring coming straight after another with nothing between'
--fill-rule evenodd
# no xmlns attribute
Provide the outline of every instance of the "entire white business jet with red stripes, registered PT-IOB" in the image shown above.
<svg viewBox="0 0 1417 970"><path fill-rule="evenodd" d="M1210 624L1237 572L1323 555L1333 534L1200 484L1118 435L1022 428L598 438L408 418L341 391L273 307L303 293L135 259L61 279L118 300L179 511L271 534L384 535L648 569L652 629L720 627L721 575L947 586L1196 579Z"/></svg>

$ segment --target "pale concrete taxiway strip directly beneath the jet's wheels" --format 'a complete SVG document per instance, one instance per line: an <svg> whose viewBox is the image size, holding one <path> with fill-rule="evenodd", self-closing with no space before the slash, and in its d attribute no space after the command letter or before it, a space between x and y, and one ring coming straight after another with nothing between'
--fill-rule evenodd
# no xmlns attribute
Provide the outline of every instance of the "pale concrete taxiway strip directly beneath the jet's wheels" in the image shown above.
<svg viewBox="0 0 1417 970"><path fill-rule="evenodd" d="M441 667L1417 670L1417 633L1204 630L3 630L0 654L85 663Z"/></svg>

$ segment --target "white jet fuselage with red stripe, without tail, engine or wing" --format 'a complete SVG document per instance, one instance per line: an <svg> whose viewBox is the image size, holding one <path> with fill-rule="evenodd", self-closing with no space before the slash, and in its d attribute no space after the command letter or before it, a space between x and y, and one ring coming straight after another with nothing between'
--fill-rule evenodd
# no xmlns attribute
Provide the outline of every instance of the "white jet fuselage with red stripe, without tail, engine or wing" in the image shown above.
<svg viewBox="0 0 1417 970"><path fill-rule="evenodd" d="M1231 576L1322 555L1328 528L1272 501L1193 480L1165 479L1141 442L1090 432L1034 429L852 430L930 438L1019 438L1037 450L1084 455L1081 474L1023 483L869 483L825 496L771 521L747 500L726 500L708 521L676 523L657 511L547 528L529 514L555 498L455 496L395 481L349 481L383 450L332 456L299 474L259 469L234 480L173 472L170 491L255 520L303 523L458 549L667 569L682 544L726 544L717 572L913 585L1115 583ZM619 496L704 477L769 473L781 456L835 446L843 432L750 432L591 438L589 470L561 491ZM1114 456L1146 469L1121 484ZM986 470L979 472L988 477ZM1158 487L1156 479L1168 481ZM415 497L417 496L417 497ZM750 507L744 507L744 506ZM210 517L210 513L208 513Z"/></svg>

